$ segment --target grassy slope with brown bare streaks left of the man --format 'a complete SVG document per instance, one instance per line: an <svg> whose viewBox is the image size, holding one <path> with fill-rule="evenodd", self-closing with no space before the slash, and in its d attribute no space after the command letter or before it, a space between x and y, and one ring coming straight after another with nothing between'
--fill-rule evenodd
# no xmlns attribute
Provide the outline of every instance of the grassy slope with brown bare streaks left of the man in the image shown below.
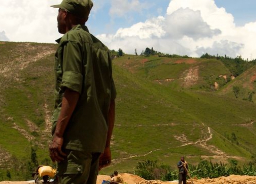
<svg viewBox="0 0 256 184"><path fill-rule="evenodd" d="M39 144L41 148L47 145L40 135L45 129L46 111L52 109L53 72L49 68L52 68L55 48L54 44L0 44L3 71L0 75L3 100L0 145L17 158L28 158L32 145ZM22 131L14 129L14 124ZM44 152L38 149L39 157L46 156Z"/></svg>

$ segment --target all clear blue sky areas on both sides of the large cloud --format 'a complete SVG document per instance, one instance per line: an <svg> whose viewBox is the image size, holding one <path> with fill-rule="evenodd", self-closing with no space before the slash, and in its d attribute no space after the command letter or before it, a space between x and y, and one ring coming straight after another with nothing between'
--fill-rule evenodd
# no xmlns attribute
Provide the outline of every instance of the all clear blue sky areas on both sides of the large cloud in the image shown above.
<svg viewBox="0 0 256 184"><path fill-rule="evenodd" d="M104 1L103 1L104 2ZM106 2L106 1L105 1ZM114 33L119 28L130 27L140 21L159 15L164 16L170 3L169 0L158 1L140 1L147 4L148 7L142 9L142 12L130 11L125 15L110 15L111 1L103 3L100 9L92 10L87 25L94 34ZM100 1L95 1L97 6ZM225 8L227 13L231 13L237 26L243 26L250 21L256 21L256 1L255 0L215 0L216 5ZM254 8L253 8L254 7ZM102 25L100 27L99 25Z"/></svg>

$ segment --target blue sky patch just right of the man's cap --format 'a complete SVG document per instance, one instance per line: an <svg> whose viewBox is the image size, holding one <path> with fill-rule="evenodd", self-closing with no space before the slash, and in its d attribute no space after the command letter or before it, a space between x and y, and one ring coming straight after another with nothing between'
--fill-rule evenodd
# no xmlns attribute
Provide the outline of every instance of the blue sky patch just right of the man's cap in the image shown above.
<svg viewBox="0 0 256 184"><path fill-rule="evenodd" d="M94 1L95 6L97 6L97 2L99 0ZM131 2L131 1L130 1ZM88 27L91 32L94 34L102 34L102 33L114 33L119 28L131 27L137 22L144 22L148 18L156 17L159 15L164 16L166 14L166 9L169 4L169 0L158 0L158 1L140 1L141 4L145 4L144 7L141 8L140 12L130 10L125 14L110 14L111 10L111 1L108 3L103 3L104 6L96 11L94 9L91 12L91 17L87 22ZM99 25L103 27L99 28Z"/></svg>

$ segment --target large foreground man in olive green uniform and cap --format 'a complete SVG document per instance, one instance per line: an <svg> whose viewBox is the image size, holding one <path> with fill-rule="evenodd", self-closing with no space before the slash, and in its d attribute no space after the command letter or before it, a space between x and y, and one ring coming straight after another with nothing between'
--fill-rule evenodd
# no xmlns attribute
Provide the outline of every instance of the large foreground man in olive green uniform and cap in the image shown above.
<svg viewBox="0 0 256 184"><path fill-rule="evenodd" d="M91 0L62 0L58 8L55 110L50 157L60 183L96 183L110 165L115 85L107 47L85 25Z"/></svg>

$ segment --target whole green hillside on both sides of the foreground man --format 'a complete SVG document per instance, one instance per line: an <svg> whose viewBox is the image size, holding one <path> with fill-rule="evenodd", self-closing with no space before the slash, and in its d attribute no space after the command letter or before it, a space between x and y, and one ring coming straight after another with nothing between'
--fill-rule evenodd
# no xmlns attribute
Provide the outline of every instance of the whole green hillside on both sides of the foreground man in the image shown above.
<svg viewBox="0 0 256 184"><path fill-rule="evenodd" d="M12 171L14 161L29 162L31 148L36 149L38 164L50 164L55 49L55 44L0 42L4 172ZM137 162L146 159L175 167L181 155L190 163L248 162L256 148L256 105L225 92L246 72L228 81L223 76L230 76L230 71L216 59L133 55L114 59L113 164L100 173L133 173ZM236 85L242 88L244 83Z"/></svg>

